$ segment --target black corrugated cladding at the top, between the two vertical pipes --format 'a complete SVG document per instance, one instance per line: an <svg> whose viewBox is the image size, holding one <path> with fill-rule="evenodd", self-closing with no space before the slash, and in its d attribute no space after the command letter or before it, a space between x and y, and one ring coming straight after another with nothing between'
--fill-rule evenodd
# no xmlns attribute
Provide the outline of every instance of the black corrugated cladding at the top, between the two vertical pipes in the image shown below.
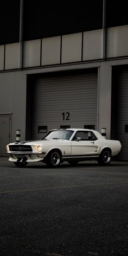
<svg viewBox="0 0 128 256"><path fill-rule="evenodd" d="M24 41L103 27L103 0L24 1Z"/></svg>

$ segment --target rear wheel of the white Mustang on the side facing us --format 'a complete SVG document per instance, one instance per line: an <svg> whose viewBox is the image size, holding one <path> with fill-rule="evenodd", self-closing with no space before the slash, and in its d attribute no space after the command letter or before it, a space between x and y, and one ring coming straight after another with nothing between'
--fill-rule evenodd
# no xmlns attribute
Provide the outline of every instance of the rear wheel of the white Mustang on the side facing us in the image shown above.
<svg viewBox="0 0 128 256"><path fill-rule="evenodd" d="M98 163L100 165L108 165L111 162L111 151L109 149L104 149L101 151Z"/></svg>

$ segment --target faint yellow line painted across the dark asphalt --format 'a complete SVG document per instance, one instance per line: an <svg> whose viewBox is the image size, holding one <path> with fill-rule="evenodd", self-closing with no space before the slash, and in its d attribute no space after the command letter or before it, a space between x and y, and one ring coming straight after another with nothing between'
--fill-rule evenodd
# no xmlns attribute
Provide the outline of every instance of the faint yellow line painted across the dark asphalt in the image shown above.
<svg viewBox="0 0 128 256"><path fill-rule="evenodd" d="M29 192L29 191L43 191L43 190L52 190L52 189L67 189L67 188L81 188L97 185L121 185L128 184L128 182L108 182L108 183L91 183L91 184L81 184L81 185L67 185L61 187L46 187L46 188L28 188L28 189L18 189L18 190L5 190L0 191L0 194L9 194L9 193L18 193L18 192Z"/></svg>

